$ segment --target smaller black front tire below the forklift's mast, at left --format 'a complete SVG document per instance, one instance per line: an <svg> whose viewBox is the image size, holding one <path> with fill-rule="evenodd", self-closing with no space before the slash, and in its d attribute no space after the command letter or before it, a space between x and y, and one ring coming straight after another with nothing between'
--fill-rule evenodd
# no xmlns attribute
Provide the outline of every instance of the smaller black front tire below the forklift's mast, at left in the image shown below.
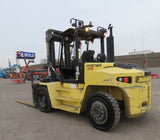
<svg viewBox="0 0 160 140"><path fill-rule="evenodd" d="M37 92L37 107L42 112L51 112L53 110L46 87L39 87ZM42 101L43 100L43 101Z"/></svg>

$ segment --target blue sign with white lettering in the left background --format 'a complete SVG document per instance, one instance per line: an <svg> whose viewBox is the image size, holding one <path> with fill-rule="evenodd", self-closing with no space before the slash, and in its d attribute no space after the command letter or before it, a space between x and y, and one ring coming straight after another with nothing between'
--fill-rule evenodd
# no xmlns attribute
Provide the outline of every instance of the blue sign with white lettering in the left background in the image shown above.
<svg viewBox="0 0 160 140"><path fill-rule="evenodd" d="M36 54L32 52L23 52L23 51L17 51L17 58L25 58L25 59L35 59Z"/></svg>

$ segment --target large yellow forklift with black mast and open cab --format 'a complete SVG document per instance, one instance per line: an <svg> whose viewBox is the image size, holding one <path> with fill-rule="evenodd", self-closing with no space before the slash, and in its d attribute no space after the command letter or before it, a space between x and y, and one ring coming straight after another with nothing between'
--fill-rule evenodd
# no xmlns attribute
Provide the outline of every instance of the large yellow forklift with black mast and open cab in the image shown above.
<svg viewBox="0 0 160 140"><path fill-rule="evenodd" d="M39 110L86 112L93 127L102 131L117 126L122 111L127 118L149 111L151 73L136 64L114 62L112 26L108 26L106 38L107 29L103 27L91 30L91 22L84 25L74 18L70 23L73 28L65 31L46 31L49 77L39 83L32 78L33 101ZM89 46L95 40L100 41L97 57L94 57L97 48L91 50ZM82 44L85 49L81 49Z"/></svg>

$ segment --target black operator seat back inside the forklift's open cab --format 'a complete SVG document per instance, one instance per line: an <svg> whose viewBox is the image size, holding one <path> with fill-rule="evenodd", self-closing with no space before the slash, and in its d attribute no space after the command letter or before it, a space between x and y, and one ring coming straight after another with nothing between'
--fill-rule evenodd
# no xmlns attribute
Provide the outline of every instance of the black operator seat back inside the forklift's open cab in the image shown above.
<svg viewBox="0 0 160 140"><path fill-rule="evenodd" d="M81 56L82 62L94 62L94 53L94 50L84 51Z"/></svg>

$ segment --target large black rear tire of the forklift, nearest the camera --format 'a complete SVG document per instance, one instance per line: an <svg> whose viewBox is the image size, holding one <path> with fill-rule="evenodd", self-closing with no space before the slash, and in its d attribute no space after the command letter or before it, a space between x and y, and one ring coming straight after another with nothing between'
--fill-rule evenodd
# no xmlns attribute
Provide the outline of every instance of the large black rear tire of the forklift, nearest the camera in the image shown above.
<svg viewBox="0 0 160 140"><path fill-rule="evenodd" d="M105 112L107 115L103 114L104 116L107 116L106 118L102 118L103 120L100 120L101 122L96 122L94 115L91 115L91 111L93 110L93 104L99 102L102 104L107 111L101 111ZM97 104L95 104L97 105ZM103 106L101 107L103 109ZM107 131L109 129L113 129L115 126L118 125L120 121L120 108L118 102L114 99L112 95L105 92L97 92L94 93L87 102L87 116L92 124L93 127L95 127L98 130L101 131ZM96 113L95 113L96 114ZM102 114L102 113L101 113ZM99 116L98 116L99 117ZM101 117L101 116L100 116ZM99 118L100 118L99 117ZM97 119L97 118L96 118ZM100 118L101 119L101 118Z"/></svg>

